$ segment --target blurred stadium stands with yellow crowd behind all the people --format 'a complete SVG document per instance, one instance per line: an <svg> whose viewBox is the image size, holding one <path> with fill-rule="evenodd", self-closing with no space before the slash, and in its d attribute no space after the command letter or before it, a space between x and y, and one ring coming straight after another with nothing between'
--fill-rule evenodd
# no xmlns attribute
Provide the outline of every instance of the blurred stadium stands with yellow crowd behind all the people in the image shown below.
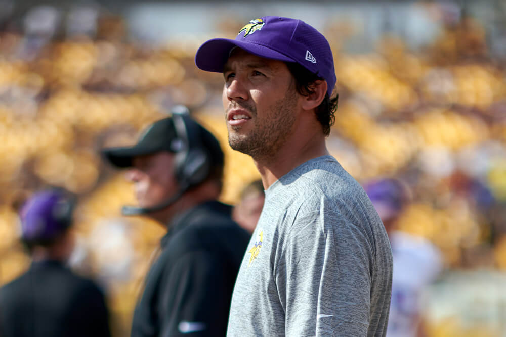
<svg viewBox="0 0 506 337"><path fill-rule="evenodd" d="M331 154L361 183L405 181L413 196L398 226L443 254L445 272L427 295L427 334L506 335L503 2L483 3L496 25L481 7L464 6L472 2L316 2L309 12L304 3L0 3L0 285L29 264L17 208L33 191L64 187L79 197L72 266L101 282L115 335L128 334L163 229L120 215L135 204L133 191L99 149L134 142L185 104L221 141L221 199L235 203L259 175L228 147L222 76L198 70L195 51L257 16L296 16L334 52Z"/></svg>

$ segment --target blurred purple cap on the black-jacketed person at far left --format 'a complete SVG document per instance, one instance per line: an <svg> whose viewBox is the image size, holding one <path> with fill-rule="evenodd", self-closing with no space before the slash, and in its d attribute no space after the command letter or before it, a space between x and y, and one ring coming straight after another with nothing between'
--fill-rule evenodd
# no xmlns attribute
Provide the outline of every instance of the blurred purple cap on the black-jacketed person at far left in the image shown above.
<svg viewBox="0 0 506 337"><path fill-rule="evenodd" d="M63 194L38 192L21 209L21 237L26 242L51 241L68 228L71 214L72 203Z"/></svg>

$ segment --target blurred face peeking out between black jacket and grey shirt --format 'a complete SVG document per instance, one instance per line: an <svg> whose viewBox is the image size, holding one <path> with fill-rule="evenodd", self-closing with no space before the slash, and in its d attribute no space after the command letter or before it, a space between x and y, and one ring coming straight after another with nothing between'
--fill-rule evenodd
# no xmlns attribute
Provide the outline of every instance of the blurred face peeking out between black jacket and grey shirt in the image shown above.
<svg viewBox="0 0 506 337"><path fill-rule="evenodd" d="M235 207L232 217L242 228L250 234L257 227L262 208L264 207L265 196L262 193L249 194L245 196Z"/></svg>

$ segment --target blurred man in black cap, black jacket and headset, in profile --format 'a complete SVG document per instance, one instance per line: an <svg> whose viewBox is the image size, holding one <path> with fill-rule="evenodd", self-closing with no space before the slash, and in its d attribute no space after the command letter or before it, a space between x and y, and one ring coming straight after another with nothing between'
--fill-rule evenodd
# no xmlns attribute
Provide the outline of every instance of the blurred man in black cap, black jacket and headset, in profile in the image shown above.
<svg viewBox="0 0 506 337"><path fill-rule="evenodd" d="M217 201L224 154L218 140L185 107L150 125L136 145L103 150L116 167L130 168L139 206L167 228L146 276L132 336L225 335L232 288L249 235Z"/></svg>

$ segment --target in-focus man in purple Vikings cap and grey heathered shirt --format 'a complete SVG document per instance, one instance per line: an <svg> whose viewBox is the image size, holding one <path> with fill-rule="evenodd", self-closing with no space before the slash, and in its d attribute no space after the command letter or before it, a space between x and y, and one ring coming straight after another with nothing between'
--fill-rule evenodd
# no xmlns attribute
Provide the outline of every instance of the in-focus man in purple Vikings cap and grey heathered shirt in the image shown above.
<svg viewBox="0 0 506 337"><path fill-rule="evenodd" d="M223 73L230 146L253 158L266 189L227 334L385 335L392 252L365 191L326 149L337 95L325 37L262 17L202 44L195 63Z"/></svg>

